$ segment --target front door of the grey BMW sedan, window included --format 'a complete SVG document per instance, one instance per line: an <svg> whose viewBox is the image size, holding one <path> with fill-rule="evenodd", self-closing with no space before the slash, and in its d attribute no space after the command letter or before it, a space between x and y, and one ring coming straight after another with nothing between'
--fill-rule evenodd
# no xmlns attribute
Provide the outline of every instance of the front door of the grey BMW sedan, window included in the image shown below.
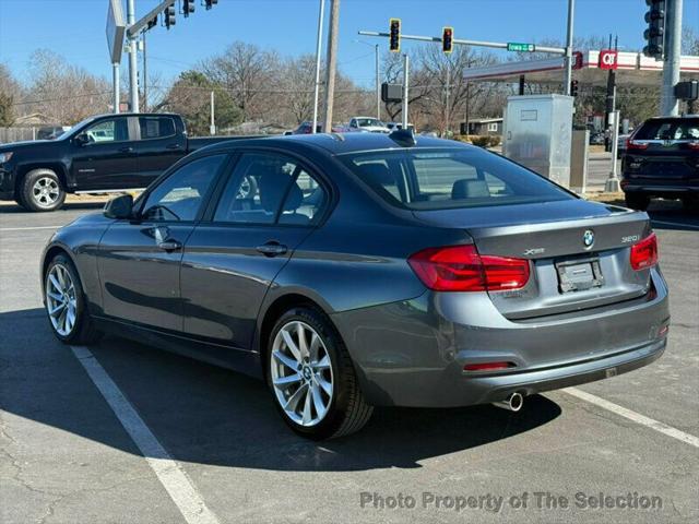
<svg viewBox="0 0 699 524"><path fill-rule="evenodd" d="M98 252L106 315L181 332L182 247L227 158L210 155L180 166L142 196L135 218L107 229Z"/></svg>

